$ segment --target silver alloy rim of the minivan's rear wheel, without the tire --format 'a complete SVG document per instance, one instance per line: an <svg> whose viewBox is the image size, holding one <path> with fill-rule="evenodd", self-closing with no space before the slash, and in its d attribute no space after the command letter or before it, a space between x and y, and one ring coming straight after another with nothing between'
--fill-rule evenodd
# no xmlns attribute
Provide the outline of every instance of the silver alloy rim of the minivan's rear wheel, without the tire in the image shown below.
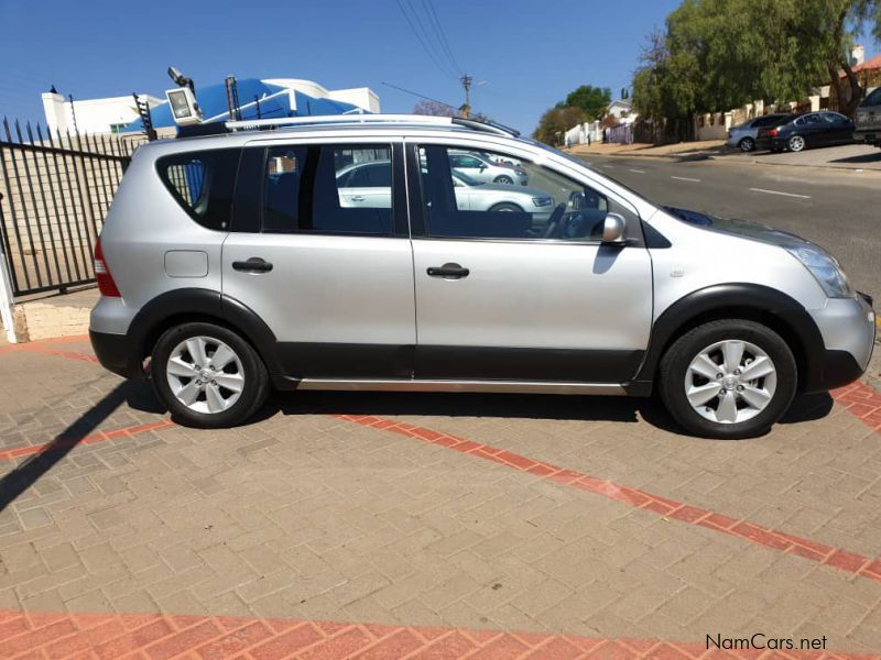
<svg viewBox="0 0 881 660"><path fill-rule="evenodd" d="M195 413L222 413L244 389L241 359L211 337L191 337L178 343L168 356L165 374L175 398Z"/></svg>

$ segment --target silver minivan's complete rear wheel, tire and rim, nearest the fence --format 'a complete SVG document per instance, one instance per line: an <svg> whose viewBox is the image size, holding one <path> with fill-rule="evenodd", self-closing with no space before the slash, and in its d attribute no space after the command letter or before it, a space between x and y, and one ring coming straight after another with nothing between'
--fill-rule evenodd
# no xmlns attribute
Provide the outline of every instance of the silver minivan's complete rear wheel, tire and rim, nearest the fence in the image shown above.
<svg viewBox="0 0 881 660"><path fill-rule="evenodd" d="M159 339L151 376L172 418L222 428L248 419L269 394L267 369L251 344L213 323L183 323Z"/></svg>

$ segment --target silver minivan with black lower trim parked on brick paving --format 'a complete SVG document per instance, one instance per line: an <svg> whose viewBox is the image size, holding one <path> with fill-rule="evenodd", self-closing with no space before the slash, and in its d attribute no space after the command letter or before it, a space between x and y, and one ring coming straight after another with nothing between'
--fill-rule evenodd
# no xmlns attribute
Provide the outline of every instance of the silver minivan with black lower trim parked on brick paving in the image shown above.
<svg viewBox="0 0 881 660"><path fill-rule="evenodd" d="M96 354L181 424L240 424L270 388L657 392L689 432L746 438L869 362L871 299L817 245L657 207L496 124L210 130L135 152L95 250ZM465 204L471 153L543 201Z"/></svg>

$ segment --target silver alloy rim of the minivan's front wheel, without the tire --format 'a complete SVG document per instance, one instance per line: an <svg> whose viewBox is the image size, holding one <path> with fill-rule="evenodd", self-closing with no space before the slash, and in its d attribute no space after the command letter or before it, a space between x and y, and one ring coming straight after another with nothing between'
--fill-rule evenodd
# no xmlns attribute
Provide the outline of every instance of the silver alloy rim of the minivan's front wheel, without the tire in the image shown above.
<svg viewBox="0 0 881 660"><path fill-rule="evenodd" d="M764 410L774 398L777 372L762 349L725 340L700 351L685 373L685 396L710 421L739 424Z"/></svg>

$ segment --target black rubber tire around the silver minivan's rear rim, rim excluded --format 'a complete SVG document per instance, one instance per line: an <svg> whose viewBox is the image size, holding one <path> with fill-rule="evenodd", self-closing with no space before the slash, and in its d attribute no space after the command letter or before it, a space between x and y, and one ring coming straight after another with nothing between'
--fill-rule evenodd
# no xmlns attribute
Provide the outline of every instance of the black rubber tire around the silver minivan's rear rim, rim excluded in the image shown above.
<svg viewBox="0 0 881 660"><path fill-rule="evenodd" d="M188 408L172 393L166 374L168 359L181 342L196 337L226 343L241 363L243 387L238 399L225 410L199 413ZM270 391L267 367L253 346L236 332L214 323L189 322L166 330L153 348L150 373L156 395L171 411L172 419L180 425L202 429L226 428L241 424L267 400Z"/></svg>

